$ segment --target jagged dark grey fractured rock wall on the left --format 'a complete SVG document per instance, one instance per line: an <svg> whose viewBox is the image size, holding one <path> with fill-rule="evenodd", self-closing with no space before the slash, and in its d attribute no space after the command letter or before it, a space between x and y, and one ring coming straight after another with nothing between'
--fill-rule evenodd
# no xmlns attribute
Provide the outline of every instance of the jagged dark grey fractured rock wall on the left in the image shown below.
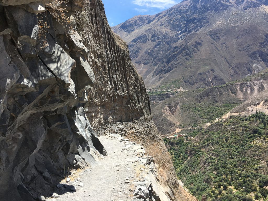
<svg viewBox="0 0 268 201"><path fill-rule="evenodd" d="M85 88L95 82L88 50L61 22L60 2L49 3L0 6L1 201L49 195L69 168L105 154L85 115Z"/></svg>

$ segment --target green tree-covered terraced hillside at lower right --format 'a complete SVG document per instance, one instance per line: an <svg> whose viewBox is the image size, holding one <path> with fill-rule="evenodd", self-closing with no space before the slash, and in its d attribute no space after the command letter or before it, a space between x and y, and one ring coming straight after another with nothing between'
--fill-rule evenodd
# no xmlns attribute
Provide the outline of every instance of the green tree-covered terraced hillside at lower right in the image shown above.
<svg viewBox="0 0 268 201"><path fill-rule="evenodd" d="M192 133L165 139L178 178L199 200L267 200L268 116L233 116Z"/></svg>

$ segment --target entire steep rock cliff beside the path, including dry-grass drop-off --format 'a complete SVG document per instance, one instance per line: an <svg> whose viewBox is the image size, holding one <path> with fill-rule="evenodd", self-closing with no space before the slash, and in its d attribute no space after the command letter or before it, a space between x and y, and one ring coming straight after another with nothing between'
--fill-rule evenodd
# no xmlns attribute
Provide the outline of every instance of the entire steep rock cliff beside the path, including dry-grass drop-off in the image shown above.
<svg viewBox="0 0 268 201"><path fill-rule="evenodd" d="M1 0L0 22L1 201L50 196L70 169L94 167L107 131L157 148L165 185L195 200L177 185L143 80L101 0Z"/></svg>

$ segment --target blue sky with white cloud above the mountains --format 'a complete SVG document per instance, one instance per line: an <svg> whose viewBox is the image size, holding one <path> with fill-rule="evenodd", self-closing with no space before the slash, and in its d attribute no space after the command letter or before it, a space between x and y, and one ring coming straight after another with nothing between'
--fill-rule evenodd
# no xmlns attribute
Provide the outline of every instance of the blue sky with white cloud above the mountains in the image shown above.
<svg viewBox="0 0 268 201"><path fill-rule="evenodd" d="M136 15L153 15L181 0L102 0L110 26L120 24Z"/></svg>

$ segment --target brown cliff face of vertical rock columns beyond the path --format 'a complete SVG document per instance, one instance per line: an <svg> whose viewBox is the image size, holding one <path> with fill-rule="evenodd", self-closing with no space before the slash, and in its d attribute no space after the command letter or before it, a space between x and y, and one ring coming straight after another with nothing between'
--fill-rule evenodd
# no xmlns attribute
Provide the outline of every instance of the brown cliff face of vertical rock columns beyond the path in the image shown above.
<svg viewBox="0 0 268 201"><path fill-rule="evenodd" d="M141 117L150 120L146 88L131 63L126 43L111 32L101 1L87 6L90 10L80 12L77 21L96 77L94 87L88 89L87 116L92 126L101 128L105 124Z"/></svg>

